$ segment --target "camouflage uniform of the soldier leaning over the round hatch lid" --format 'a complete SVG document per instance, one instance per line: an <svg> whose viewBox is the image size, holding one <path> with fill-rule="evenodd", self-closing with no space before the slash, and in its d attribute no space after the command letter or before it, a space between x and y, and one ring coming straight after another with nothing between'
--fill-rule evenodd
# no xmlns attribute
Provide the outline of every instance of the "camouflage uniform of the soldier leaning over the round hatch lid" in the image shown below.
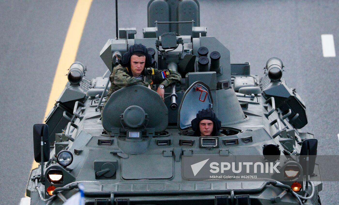
<svg viewBox="0 0 339 205"><path fill-rule="evenodd" d="M146 73L149 75L142 76L142 79L136 79L135 77L129 75L130 68L122 67L121 65L117 65L113 68L111 76L109 79L111 80L111 87L108 90L106 100L103 104L105 106L109 97L111 97L112 93L117 91L120 88L127 87L130 85L144 85L148 87L148 85L152 84L162 84L168 87L170 84L180 81L181 75L177 72L172 72L172 70L166 70L166 78L162 77L162 70L154 69L154 68L145 68Z"/></svg>

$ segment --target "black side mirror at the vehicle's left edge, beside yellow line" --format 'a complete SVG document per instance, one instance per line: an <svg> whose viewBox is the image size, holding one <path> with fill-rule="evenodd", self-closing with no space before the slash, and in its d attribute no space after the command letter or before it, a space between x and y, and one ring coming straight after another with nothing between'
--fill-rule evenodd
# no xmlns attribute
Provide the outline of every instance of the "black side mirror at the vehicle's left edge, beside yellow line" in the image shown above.
<svg viewBox="0 0 339 205"><path fill-rule="evenodd" d="M43 149L41 149L43 145ZM48 125L35 124L33 125L33 146L34 146L34 160L41 162L41 151L43 150L43 162L49 160L49 141L48 141Z"/></svg>

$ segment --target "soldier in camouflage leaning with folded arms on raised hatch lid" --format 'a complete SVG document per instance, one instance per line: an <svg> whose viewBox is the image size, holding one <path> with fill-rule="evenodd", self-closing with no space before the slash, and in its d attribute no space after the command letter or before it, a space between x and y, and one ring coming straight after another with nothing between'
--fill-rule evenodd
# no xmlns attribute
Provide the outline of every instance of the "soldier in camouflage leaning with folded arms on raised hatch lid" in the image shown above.
<svg viewBox="0 0 339 205"><path fill-rule="evenodd" d="M169 69L154 69L152 68L154 64L154 59L148 54L144 45L131 45L120 60L120 65L115 66L111 76L109 76L111 87L108 90L104 105L112 93L130 85L148 87L149 85L159 84L157 93L164 100L164 89L170 84L180 81L181 75Z"/></svg>

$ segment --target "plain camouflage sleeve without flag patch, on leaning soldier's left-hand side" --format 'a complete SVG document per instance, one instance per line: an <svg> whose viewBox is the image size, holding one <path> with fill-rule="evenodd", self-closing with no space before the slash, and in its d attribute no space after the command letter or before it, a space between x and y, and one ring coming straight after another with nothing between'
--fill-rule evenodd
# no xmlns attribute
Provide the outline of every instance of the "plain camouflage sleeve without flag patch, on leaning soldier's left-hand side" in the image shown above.
<svg viewBox="0 0 339 205"><path fill-rule="evenodd" d="M111 76L109 76L111 82L118 87L127 87L130 85L144 85L142 79L136 79L135 77L129 76L122 66L116 67L113 70Z"/></svg>

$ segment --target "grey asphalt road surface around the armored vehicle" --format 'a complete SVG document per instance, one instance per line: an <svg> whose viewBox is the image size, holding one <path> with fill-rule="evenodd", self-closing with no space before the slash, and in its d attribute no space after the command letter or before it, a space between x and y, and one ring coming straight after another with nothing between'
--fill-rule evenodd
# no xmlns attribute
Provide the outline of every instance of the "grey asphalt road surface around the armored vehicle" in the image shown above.
<svg viewBox="0 0 339 205"><path fill-rule="evenodd" d="M136 27L141 38L147 2L119 1L119 27ZM19 204L24 197L33 161L32 126L43 120L76 3L0 2L3 205ZM319 140L319 155L339 155L339 60L323 57L321 42L322 34L333 34L339 48L338 11L338 1L200 1L200 25L231 51L231 63L250 62L251 74L262 75L269 58L283 61L287 85L297 88L306 103L308 125L302 130ZM106 71L99 52L109 38L115 38L115 2L93 1L76 57L87 66L88 79ZM323 204L337 204L338 185L323 183Z"/></svg>

